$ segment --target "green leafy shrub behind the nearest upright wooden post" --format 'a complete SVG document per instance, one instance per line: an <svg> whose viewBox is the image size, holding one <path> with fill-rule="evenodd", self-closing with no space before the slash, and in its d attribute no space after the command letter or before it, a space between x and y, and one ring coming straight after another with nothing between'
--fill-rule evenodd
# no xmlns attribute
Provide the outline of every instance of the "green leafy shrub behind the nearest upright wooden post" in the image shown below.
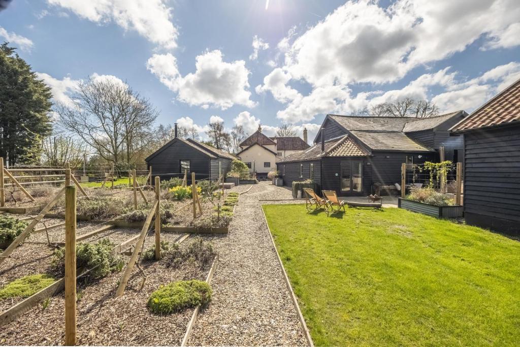
<svg viewBox="0 0 520 347"><path fill-rule="evenodd" d="M114 244L109 239L97 243L78 243L76 245L76 268L92 269L90 278L105 277L113 271L121 271L123 260L112 252ZM53 267L59 274L65 272L65 249L59 248L53 253Z"/></svg>

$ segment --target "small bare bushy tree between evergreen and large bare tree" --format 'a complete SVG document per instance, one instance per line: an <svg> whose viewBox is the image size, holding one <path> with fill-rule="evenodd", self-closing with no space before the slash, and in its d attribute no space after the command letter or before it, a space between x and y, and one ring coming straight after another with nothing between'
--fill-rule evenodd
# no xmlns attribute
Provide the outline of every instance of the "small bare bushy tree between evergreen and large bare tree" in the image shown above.
<svg viewBox="0 0 520 347"><path fill-rule="evenodd" d="M41 164L47 166L64 167L70 163L72 167L83 161L86 146L79 144L72 137L52 136L42 142Z"/></svg>

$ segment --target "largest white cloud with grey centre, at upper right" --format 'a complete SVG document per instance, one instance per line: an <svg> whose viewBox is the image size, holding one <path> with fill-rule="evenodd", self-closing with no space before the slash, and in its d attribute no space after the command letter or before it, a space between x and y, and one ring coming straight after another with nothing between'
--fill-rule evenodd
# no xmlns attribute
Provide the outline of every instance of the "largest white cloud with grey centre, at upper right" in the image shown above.
<svg viewBox="0 0 520 347"><path fill-rule="evenodd" d="M347 2L290 48L281 45L284 69L313 86L396 81L482 35L495 45L518 44L518 18L515 0L398 0L386 9L367 0Z"/></svg>

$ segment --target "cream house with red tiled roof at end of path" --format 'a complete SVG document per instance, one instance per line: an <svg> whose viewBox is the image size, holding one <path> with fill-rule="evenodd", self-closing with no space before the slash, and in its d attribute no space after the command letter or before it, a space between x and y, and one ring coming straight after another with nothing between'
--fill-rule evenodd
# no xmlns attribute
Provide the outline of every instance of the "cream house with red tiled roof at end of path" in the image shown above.
<svg viewBox="0 0 520 347"><path fill-rule="evenodd" d="M307 129L303 130L303 139L298 136L268 137L262 133L262 126L239 145L237 156L248 165L250 172L257 176L266 176L276 170L276 162L309 148L307 144Z"/></svg>

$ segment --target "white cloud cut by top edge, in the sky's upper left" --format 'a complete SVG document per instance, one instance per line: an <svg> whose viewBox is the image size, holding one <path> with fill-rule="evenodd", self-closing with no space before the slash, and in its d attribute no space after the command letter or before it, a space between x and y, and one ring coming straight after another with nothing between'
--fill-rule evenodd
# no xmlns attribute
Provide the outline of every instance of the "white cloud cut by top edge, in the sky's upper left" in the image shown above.
<svg viewBox="0 0 520 347"><path fill-rule="evenodd" d="M177 28L172 8L165 0L47 0L50 5L71 10L96 23L115 22L124 30L135 30L165 48L177 47Z"/></svg>

